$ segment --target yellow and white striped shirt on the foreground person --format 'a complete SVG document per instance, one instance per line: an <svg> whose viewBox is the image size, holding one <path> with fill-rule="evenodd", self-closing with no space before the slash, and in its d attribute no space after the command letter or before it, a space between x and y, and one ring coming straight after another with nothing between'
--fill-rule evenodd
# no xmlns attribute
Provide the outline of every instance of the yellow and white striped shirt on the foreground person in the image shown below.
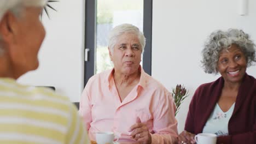
<svg viewBox="0 0 256 144"><path fill-rule="evenodd" d="M47 88L0 79L0 143L88 143L77 109Z"/></svg>

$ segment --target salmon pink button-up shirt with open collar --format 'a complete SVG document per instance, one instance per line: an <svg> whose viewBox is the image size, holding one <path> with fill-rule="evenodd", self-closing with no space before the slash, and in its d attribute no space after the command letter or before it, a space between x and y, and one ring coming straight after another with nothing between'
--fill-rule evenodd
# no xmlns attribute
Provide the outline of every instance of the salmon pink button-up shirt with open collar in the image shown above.
<svg viewBox="0 0 256 144"><path fill-rule="evenodd" d="M139 67L138 85L121 101L113 79L114 70L104 71L90 78L80 100L79 113L95 140L98 131L113 131L119 141L136 142L129 128L136 117L146 123L152 143L173 143L177 140L175 105L167 89Z"/></svg>

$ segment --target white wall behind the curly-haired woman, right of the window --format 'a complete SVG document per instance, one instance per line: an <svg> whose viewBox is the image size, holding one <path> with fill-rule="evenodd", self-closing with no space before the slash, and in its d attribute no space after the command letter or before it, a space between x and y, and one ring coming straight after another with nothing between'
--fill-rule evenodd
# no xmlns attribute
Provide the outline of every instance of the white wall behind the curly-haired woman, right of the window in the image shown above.
<svg viewBox="0 0 256 144"><path fill-rule="evenodd" d="M219 77L200 67L207 36L216 29L241 28L256 42L256 1L249 0L247 16L238 15L237 9L237 0L153 1L152 75L169 91L180 83L190 93L177 115L179 132L195 89ZM256 67L247 73L256 77Z"/></svg>

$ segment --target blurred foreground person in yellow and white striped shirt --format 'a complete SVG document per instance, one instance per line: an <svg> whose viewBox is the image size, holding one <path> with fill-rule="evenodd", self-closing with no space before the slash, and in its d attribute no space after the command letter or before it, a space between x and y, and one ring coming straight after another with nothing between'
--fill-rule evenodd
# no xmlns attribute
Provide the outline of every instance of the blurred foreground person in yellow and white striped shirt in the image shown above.
<svg viewBox="0 0 256 144"><path fill-rule="evenodd" d="M77 109L46 88L20 85L38 67L46 0L0 0L0 143L87 143Z"/></svg>

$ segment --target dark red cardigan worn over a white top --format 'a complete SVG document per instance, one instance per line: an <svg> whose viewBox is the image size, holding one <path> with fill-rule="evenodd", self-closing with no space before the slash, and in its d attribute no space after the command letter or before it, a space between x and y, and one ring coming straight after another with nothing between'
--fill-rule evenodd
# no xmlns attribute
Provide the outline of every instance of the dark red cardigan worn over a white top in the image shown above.
<svg viewBox="0 0 256 144"><path fill-rule="evenodd" d="M224 84L223 77L196 89L189 105L185 130L202 133L216 105ZM256 79L245 75L238 90L236 104L228 125L229 135L219 136L217 143L256 143Z"/></svg>

